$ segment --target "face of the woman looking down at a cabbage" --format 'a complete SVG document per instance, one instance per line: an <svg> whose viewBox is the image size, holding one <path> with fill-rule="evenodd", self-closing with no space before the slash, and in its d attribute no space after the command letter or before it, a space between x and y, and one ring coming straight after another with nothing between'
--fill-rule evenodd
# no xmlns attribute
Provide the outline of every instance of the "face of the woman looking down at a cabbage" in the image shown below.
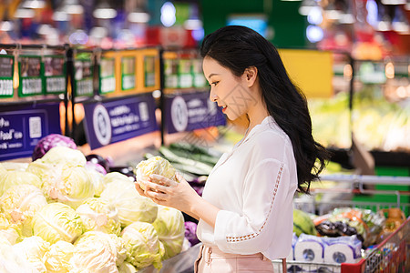
<svg viewBox="0 0 410 273"><path fill-rule="evenodd" d="M234 76L231 70L205 56L202 63L203 73L210 83L210 100L222 107L229 119L235 120L248 113L250 92L244 79Z"/></svg>

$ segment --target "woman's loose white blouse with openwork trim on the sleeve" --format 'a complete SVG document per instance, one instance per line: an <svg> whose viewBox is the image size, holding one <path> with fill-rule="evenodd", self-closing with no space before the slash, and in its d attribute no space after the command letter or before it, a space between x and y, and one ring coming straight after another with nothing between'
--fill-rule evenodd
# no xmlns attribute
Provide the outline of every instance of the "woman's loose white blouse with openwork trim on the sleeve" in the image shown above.
<svg viewBox="0 0 410 273"><path fill-rule="evenodd" d="M212 169L202 197L221 210L197 236L225 253L286 258L292 248L296 162L290 138L267 116Z"/></svg>

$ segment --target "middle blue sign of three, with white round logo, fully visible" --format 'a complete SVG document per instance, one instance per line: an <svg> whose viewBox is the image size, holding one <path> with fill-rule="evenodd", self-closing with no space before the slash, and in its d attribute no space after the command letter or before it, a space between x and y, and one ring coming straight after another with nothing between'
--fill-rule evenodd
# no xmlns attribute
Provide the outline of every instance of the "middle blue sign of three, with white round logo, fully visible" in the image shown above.
<svg viewBox="0 0 410 273"><path fill-rule="evenodd" d="M84 105L86 136L91 149L158 130L151 94Z"/></svg>

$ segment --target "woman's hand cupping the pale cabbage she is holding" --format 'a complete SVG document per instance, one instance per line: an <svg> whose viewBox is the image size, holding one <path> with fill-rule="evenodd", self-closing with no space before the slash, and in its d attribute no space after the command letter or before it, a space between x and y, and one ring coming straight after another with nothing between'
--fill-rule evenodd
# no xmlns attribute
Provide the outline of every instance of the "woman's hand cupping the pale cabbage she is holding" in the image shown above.
<svg viewBox="0 0 410 273"><path fill-rule="evenodd" d="M145 187L145 195L155 203L167 207L174 207L190 214L191 205L197 197L197 192L179 173L177 181L159 175L151 175L150 181L141 181Z"/></svg>

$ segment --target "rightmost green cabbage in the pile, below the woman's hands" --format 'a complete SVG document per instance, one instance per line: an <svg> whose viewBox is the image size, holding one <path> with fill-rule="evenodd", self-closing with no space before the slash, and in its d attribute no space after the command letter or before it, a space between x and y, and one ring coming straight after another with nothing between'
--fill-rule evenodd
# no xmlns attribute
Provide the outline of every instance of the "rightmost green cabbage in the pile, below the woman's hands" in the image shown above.
<svg viewBox="0 0 410 273"><path fill-rule="evenodd" d="M159 206L157 219L152 223L157 230L159 240L164 244L165 254L162 259L179 254L185 238L184 217L172 207Z"/></svg>

